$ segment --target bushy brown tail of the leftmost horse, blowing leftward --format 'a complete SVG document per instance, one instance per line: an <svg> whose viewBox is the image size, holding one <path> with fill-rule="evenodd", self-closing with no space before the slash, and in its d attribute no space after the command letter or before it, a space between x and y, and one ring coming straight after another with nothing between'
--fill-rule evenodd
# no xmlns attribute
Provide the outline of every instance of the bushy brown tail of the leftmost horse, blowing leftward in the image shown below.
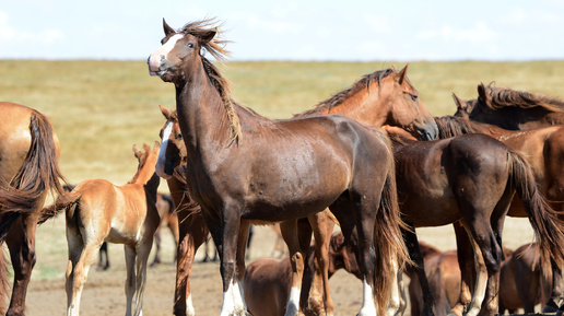
<svg viewBox="0 0 564 316"><path fill-rule="evenodd" d="M62 194L59 179L66 183L58 166L55 134L47 117L34 110L30 119L30 132L27 155L10 185L3 186L0 194L1 213L11 213L12 222L20 214L31 213L47 189ZM0 236L10 229L5 224L5 215L2 220Z"/></svg>

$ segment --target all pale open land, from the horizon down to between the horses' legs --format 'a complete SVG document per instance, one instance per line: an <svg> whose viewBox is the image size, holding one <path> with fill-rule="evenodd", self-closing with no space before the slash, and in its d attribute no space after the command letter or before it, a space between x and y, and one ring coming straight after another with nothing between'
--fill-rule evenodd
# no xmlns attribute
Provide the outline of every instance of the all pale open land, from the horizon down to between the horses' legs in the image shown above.
<svg viewBox="0 0 564 316"><path fill-rule="evenodd" d="M149 54L149 52L148 52ZM287 118L351 86L362 75L404 62L228 62L222 71L233 83L235 98L271 118ZM408 75L425 106L435 116L453 114L451 93L477 96L480 82L495 81L534 93L564 95L564 61L531 62L425 62L410 63ZM0 100L24 104L50 117L61 143L60 167L71 183L105 178L125 184L137 161L133 143L153 143L164 119L158 105L173 108L174 86L149 77L144 61L109 60L0 60ZM162 184L166 191L166 184ZM420 238L442 249L455 247L450 226L418 230ZM171 315L174 247L164 236L168 264L149 273L145 315ZM258 227L251 260L267 257L274 235ZM508 219L504 242L517 247L531 241L526 220ZM110 245L111 268L91 270L83 293L83 315L119 315L125 311L122 247ZM201 258L201 251L198 255ZM151 257L152 258L152 257ZM64 313L67 242L62 216L37 231L37 264L28 291L28 315ZM198 315L218 315L221 283L216 264L195 268L192 289ZM353 315L360 307L361 283L344 272L331 279L338 315Z"/></svg>

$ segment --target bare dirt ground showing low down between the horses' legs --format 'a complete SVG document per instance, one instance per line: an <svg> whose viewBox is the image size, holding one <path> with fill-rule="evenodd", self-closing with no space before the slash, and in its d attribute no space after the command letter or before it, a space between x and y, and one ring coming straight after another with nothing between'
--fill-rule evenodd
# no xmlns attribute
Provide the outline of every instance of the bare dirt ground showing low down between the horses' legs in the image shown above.
<svg viewBox="0 0 564 316"><path fill-rule="evenodd" d="M60 221L60 220L57 220ZM38 238L40 238L38 231ZM167 233L167 232L165 232ZM418 230L420 239L430 242L443 250L453 249L455 239L451 226ZM63 238L63 235L62 235ZM505 245L517 247L530 242L532 233L527 220L508 219L504 233ZM143 315L172 315L175 282L173 264L173 243L167 234L163 236L164 264L149 269L148 284L143 301ZM268 257L274 245L275 235L269 227L256 227L250 248L252 261ZM124 250L119 245L109 248L111 267L107 271L91 269L81 300L81 315L121 315L125 314L126 297L124 282L126 278ZM40 249L38 249L40 253ZM66 255L66 253L63 254ZM216 262L199 262L202 249L197 256L191 286L197 315L216 316L221 309L222 285ZM152 259L152 256L151 256ZM40 254L38 264L40 266ZM36 266L36 267L37 267ZM409 279L406 277L406 280ZM355 315L362 303L362 284L352 274L339 271L330 280L331 294L336 304L336 315ZM66 313L64 277L48 280L32 280L27 293L27 315L63 315ZM409 314L409 309L407 312Z"/></svg>

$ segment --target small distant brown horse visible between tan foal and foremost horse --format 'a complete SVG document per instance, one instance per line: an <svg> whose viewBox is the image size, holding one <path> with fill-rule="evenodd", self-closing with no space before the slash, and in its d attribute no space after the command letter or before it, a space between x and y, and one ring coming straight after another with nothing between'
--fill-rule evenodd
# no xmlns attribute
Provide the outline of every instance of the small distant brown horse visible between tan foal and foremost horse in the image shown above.
<svg viewBox="0 0 564 316"><path fill-rule="evenodd" d="M171 195L156 194L156 210L158 211L161 223L158 224L158 229L156 229L154 233L156 248L155 257L150 266L151 268L156 267L161 264L161 230L163 227L166 226L168 227L168 230L171 230L175 247L178 247L178 215L175 212L174 202Z"/></svg>

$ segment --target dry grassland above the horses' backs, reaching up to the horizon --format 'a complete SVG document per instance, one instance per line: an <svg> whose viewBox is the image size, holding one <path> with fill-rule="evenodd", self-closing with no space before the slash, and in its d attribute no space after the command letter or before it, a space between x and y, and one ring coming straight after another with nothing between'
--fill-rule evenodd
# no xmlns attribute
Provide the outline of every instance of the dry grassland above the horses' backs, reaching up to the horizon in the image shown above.
<svg viewBox="0 0 564 316"><path fill-rule="evenodd" d="M348 89L362 75L404 62L228 62L222 71L235 98L271 118L286 118ZM411 62L409 78L436 116L454 113L451 93L477 95L495 81L530 92L564 95L564 61ZM133 143L153 143L164 120L158 105L173 108L174 86L148 74L139 61L0 60L0 100L47 114L60 138L60 166L78 183L130 179Z"/></svg>

